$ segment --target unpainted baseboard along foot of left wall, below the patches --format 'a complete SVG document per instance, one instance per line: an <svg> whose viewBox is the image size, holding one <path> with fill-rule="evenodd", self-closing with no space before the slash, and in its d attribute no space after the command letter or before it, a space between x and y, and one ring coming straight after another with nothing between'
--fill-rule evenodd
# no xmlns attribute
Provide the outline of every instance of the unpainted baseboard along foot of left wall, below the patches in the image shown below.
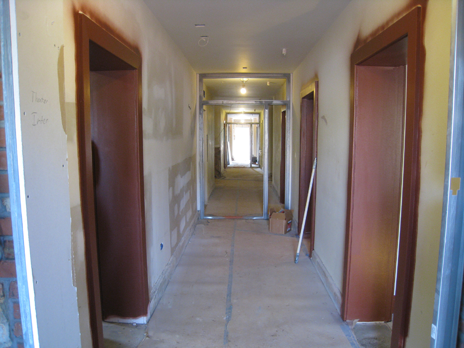
<svg viewBox="0 0 464 348"><path fill-rule="evenodd" d="M190 237L193 234L193 231L195 230L196 224L198 222L199 218L199 213L198 211L195 213L195 216L192 219L192 222L190 223L189 228L187 229L186 233L180 240L179 244L177 245L174 253L171 255L169 258L168 264L164 268L163 272L161 272L161 275L159 276L158 280L156 281L153 290L151 290L150 294L150 303L148 304L148 317L147 322L148 323L149 319L153 315L153 312L156 309L156 306L158 306L158 303L161 300L161 296L163 296L166 287L168 286L168 283L172 277L172 274L174 273L174 270L177 267L177 264L179 263L180 258L182 257L182 254L184 254L184 250L189 244Z"/></svg>

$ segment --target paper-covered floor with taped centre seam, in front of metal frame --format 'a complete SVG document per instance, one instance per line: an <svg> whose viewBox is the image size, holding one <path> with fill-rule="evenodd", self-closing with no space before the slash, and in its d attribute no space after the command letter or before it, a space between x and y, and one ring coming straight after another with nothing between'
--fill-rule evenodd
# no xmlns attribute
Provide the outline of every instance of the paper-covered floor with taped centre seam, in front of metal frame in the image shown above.
<svg viewBox="0 0 464 348"><path fill-rule="evenodd" d="M139 348L359 347L294 233L201 220Z"/></svg>

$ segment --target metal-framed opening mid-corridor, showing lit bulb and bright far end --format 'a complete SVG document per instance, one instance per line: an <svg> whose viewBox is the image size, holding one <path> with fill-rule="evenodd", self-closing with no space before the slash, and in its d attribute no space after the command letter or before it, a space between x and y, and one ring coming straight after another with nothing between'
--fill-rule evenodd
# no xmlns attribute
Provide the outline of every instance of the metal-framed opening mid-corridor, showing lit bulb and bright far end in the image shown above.
<svg viewBox="0 0 464 348"><path fill-rule="evenodd" d="M288 74L199 75L201 218L267 219L269 204L280 206L281 199L288 205L289 198L279 192L281 188L287 192L289 185L285 143L290 130L285 112L281 139L289 78ZM239 92L242 80L245 96Z"/></svg>

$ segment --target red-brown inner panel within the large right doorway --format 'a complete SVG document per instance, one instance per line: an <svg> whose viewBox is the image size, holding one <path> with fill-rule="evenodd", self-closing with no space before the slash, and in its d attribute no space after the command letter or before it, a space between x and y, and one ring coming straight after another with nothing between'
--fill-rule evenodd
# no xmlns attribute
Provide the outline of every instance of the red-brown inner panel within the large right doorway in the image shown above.
<svg viewBox="0 0 464 348"><path fill-rule="evenodd" d="M405 67L356 66L346 319L390 321L401 205Z"/></svg>

